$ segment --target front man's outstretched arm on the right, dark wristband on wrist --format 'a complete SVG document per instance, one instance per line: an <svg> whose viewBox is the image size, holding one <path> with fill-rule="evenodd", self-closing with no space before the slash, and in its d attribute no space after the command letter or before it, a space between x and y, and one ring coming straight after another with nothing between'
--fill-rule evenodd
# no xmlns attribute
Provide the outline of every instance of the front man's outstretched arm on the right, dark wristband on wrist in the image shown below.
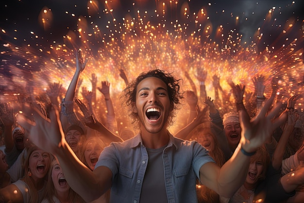
<svg viewBox="0 0 304 203"><path fill-rule="evenodd" d="M273 100L272 100L273 101ZM244 183L248 173L250 157L277 126L279 118L273 119L269 114L272 102L265 103L262 110L250 119L245 109L240 109L239 118L242 128L241 140L233 156L221 168L214 163L207 163L200 169L200 181L220 196L231 197ZM272 111L279 111L273 108ZM274 114L274 112L273 112Z"/></svg>

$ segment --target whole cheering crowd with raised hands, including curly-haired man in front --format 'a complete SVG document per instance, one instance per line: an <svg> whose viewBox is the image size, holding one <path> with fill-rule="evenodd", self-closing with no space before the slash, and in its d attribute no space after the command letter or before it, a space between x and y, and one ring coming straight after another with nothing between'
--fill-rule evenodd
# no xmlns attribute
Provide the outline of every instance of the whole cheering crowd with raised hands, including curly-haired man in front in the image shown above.
<svg viewBox="0 0 304 203"><path fill-rule="evenodd" d="M78 51L63 99L62 85L54 83L47 98L38 100L31 90L20 96L18 111L0 104L0 202L304 202L301 94L282 102L275 77L265 96L262 75L251 93L232 82L224 92L213 75L212 99L203 69L196 75L199 91L187 73L191 88L183 90L182 79L168 71L150 70L129 82L121 69L126 88L118 112L110 83L97 87L95 74L92 91L82 88L85 101L78 97L86 63ZM171 134L181 109L183 124ZM118 114L129 125L118 125Z"/></svg>

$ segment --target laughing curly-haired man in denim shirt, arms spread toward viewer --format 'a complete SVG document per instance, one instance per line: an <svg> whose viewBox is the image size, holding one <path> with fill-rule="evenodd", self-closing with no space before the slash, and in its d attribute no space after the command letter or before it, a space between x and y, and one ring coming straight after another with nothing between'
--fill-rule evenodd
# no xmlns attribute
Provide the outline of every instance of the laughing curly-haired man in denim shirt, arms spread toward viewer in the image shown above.
<svg viewBox="0 0 304 203"><path fill-rule="evenodd" d="M197 179L229 198L244 183L250 157L271 136L277 119L265 116L270 104L264 105L254 121L240 109L241 140L232 158L220 168L200 144L175 138L168 131L183 99L180 81L155 69L128 85L121 99L139 133L104 148L93 171L68 146L55 110L49 112L49 121L32 109L32 140L57 157L68 184L86 202L111 188L111 203L197 203ZM29 126L22 119L19 123Z"/></svg>

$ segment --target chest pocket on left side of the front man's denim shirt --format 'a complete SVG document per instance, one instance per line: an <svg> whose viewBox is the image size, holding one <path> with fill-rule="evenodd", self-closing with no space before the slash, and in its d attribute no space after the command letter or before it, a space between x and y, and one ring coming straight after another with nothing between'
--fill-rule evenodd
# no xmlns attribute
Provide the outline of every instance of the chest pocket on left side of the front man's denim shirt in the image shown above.
<svg viewBox="0 0 304 203"><path fill-rule="evenodd" d="M120 197L125 197L130 189L131 181L133 178L134 171L119 167L118 175L116 177L115 185L112 186L111 190Z"/></svg>

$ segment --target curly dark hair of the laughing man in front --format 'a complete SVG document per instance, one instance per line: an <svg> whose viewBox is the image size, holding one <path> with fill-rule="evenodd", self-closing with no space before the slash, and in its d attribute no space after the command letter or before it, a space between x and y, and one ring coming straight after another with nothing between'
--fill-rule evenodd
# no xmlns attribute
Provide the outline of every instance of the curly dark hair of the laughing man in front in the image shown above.
<svg viewBox="0 0 304 203"><path fill-rule="evenodd" d="M134 129L139 129L139 119L137 113L132 111L132 104L136 101L136 92L138 84L148 78L148 77L156 77L161 79L167 85L167 91L170 102L173 104L173 110L169 112L168 124L169 126L173 124L174 117L176 115L176 110L180 109L181 99L184 98L184 91L181 90L180 83L182 79L176 79L172 73L168 71L163 71L159 69L150 70L148 72L143 72L138 75L135 80L129 83L128 87L126 87L122 95L120 97L122 108L127 110L127 115L129 116L131 124L133 124Z"/></svg>

